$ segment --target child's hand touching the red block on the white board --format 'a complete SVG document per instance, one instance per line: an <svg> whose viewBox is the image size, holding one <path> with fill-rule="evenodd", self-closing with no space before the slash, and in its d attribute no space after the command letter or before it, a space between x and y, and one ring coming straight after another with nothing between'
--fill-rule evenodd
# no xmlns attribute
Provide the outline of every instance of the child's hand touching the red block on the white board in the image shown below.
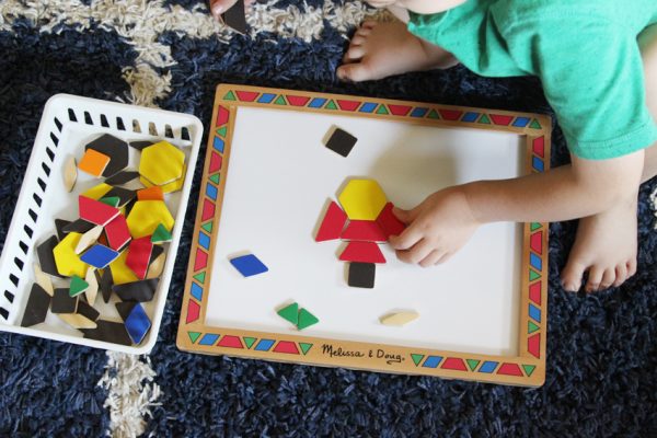
<svg viewBox="0 0 657 438"><path fill-rule="evenodd" d="M412 210L393 212L408 228L392 235L390 244L402 262L423 267L447 262L480 226L459 186L436 192Z"/></svg>

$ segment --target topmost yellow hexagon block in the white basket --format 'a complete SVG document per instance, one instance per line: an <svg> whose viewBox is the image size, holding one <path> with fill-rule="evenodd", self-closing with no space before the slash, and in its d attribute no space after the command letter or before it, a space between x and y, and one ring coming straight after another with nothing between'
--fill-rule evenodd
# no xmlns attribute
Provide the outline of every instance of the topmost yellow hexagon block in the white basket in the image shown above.
<svg viewBox="0 0 657 438"><path fill-rule="evenodd" d="M155 185L163 185L183 175L185 154L169 141L145 148L139 161L139 174Z"/></svg>

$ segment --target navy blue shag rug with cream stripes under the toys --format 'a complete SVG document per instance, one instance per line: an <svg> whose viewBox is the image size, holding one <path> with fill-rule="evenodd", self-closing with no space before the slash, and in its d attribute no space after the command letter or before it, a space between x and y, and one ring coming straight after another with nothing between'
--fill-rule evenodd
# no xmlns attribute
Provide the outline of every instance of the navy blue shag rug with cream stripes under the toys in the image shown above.
<svg viewBox="0 0 657 438"><path fill-rule="evenodd" d="M61 0L38 9L0 1L0 203L15 205L43 106L55 93L154 104L206 124L220 82L551 114L537 80L485 79L462 67L341 83L335 68L366 11L360 2L260 7L256 32L241 36L209 24L196 0ZM552 165L566 161L556 127ZM137 365L149 370L147 400L128 412L135 405L112 381L138 371L120 358L0 333L0 436L657 436L649 200L657 181L641 189L638 273L618 289L565 292L558 272L576 223L552 224L548 377L540 389L522 389L178 351L199 170L159 341ZM0 242L11 215L0 211Z"/></svg>

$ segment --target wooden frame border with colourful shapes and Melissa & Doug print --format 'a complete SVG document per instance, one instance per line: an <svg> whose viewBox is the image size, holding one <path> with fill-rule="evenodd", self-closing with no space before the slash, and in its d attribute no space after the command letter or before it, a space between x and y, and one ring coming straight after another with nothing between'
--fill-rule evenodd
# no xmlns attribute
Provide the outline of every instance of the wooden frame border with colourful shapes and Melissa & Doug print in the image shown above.
<svg viewBox="0 0 657 438"><path fill-rule="evenodd" d="M239 106L371 117L439 127L502 130L526 136L528 172L550 166L552 123L537 114L390 101L337 94L217 87L176 345L180 349L276 361L339 366L539 387L545 380L548 223L525 224L518 356L494 356L205 325L223 188Z"/></svg>

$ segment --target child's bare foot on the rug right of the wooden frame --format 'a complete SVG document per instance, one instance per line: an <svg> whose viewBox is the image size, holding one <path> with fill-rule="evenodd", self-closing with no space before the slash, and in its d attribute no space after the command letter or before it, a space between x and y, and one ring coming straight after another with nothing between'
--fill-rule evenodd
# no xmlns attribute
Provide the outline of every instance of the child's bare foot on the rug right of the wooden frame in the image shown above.
<svg viewBox="0 0 657 438"><path fill-rule="evenodd" d="M587 292L618 287L636 273L636 203L579 219L562 272L564 289L579 290L587 270Z"/></svg>

